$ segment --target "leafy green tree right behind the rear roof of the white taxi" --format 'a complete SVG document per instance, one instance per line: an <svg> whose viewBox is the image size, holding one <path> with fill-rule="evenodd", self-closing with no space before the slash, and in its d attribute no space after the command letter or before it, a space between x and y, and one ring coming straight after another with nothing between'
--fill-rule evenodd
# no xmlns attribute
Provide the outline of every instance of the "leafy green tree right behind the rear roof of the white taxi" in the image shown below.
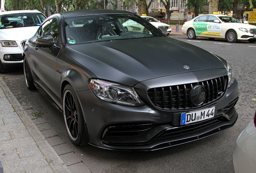
<svg viewBox="0 0 256 173"><path fill-rule="evenodd" d="M186 0L182 0L185 2ZM204 12L205 0L188 0L186 4L186 11L195 12L196 16L198 16L199 11Z"/></svg>

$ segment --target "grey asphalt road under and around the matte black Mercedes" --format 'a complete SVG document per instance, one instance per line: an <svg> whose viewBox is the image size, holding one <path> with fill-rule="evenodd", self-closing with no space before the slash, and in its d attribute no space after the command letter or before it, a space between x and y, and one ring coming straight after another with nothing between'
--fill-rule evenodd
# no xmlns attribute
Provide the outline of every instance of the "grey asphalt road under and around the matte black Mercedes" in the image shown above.
<svg viewBox="0 0 256 173"><path fill-rule="evenodd" d="M233 65L240 90L236 105L239 118L234 127L199 141L152 152L109 151L91 145L76 147L68 139L62 113L39 91L27 90L23 68L14 68L0 76L24 109L43 113L42 117L92 173L234 173L235 141L256 110L256 43L173 38L204 48Z"/></svg>

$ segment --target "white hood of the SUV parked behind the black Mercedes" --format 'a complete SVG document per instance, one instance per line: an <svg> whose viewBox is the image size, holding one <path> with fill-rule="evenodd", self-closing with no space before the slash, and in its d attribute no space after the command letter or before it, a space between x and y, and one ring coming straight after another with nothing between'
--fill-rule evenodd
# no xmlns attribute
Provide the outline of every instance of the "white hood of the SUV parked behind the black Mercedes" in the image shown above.
<svg viewBox="0 0 256 173"><path fill-rule="evenodd" d="M22 41L31 38L39 26L0 29L1 40Z"/></svg>

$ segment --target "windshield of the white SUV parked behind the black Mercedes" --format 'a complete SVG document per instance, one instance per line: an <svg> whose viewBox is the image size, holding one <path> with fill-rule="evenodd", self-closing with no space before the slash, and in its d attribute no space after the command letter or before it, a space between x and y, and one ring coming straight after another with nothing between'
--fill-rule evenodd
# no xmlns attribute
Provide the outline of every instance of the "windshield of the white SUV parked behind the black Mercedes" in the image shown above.
<svg viewBox="0 0 256 173"><path fill-rule="evenodd" d="M0 15L0 29L40 26L45 20L41 13L16 13Z"/></svg>

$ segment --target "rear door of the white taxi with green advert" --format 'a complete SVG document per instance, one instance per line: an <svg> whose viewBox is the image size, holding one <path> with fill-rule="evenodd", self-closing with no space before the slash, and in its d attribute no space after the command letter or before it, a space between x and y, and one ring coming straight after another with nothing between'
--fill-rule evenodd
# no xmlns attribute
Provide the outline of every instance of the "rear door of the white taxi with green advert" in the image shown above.
<svg viewBox="0 0 256 173"><path fill-rule="evenodd" d="M195 28L196 35L201 35L201 36L205 35L207 18L208 18L207 15L202 15L194 20L193 26Z"/></svg>

